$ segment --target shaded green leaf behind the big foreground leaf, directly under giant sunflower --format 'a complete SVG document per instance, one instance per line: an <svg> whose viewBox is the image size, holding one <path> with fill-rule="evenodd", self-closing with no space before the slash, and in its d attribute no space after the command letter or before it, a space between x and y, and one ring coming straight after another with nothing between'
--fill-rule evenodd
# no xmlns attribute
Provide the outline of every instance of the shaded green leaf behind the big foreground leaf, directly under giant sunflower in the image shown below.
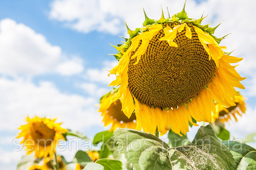
<svg viewBox="0 0 256 170"><path fill-rule="evenodd" d="M190 143L186 135L180 136L172 131L172 129L170 129L168 132L168 139L170 141L170 146L172 146L173 148L181 145L187 145Z"/></svg>

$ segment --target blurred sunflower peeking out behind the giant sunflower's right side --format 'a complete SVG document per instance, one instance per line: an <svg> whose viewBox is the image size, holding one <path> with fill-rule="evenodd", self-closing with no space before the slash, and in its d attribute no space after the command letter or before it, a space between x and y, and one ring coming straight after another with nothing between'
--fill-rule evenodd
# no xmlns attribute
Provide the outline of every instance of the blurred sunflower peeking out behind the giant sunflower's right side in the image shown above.
<svg viewBox="0 0 256 170"><path fill-rule="evenodd" d="M219 103L216 103L216 114L212 115L212 121L215 122L216 120L220 120L221 122L225 123L231 119L231 116L233 116L237 122L236 114L242 116L242 114L246 111L244 100L245 99L242 95L236 96L234 100L236 105L231 107L225 107Z"/></svg>

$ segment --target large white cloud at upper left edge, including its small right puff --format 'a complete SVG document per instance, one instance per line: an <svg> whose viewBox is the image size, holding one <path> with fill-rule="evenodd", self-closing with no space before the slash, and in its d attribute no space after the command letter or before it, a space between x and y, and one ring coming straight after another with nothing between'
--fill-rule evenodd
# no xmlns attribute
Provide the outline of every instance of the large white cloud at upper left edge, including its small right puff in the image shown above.
<svg viewBox="0 0 256 170"><path fill-rule="evenodd" d="M3 75L32 77L57 71L70 76L84 69L81 59L68 59L59 46L51 45L43 35L12 19L0 22L0 46Z"/></svg>

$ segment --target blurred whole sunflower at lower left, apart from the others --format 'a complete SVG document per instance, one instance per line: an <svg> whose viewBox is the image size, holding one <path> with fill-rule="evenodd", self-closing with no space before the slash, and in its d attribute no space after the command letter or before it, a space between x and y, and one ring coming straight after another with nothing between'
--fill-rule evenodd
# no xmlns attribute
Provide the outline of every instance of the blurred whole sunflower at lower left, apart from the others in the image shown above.
<svg viewBox="0 0 256 170"><path fill-rule="evenodd" d="M67 129L60 127L62 123L55 123L56 119L27 117L28 123L18 128L22 130L18 138L24 137L21 143L24 143L24 147L26 146L27 154L35 151L37 158L53 158L58 140L64 139L62 133L67 132Z"/></svg>

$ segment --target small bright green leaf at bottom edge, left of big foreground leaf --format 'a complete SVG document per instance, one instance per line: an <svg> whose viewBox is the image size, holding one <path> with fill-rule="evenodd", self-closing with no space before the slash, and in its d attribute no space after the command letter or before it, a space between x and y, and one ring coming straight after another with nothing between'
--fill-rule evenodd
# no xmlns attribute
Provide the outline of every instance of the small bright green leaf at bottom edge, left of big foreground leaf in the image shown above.
<svg viewBox="0 0 256 170"><path fill-rule="evenodd" d="M98 163L104 167L104 170L121 170L122 162L111 159L99 159L95 163Z"/></svg>

